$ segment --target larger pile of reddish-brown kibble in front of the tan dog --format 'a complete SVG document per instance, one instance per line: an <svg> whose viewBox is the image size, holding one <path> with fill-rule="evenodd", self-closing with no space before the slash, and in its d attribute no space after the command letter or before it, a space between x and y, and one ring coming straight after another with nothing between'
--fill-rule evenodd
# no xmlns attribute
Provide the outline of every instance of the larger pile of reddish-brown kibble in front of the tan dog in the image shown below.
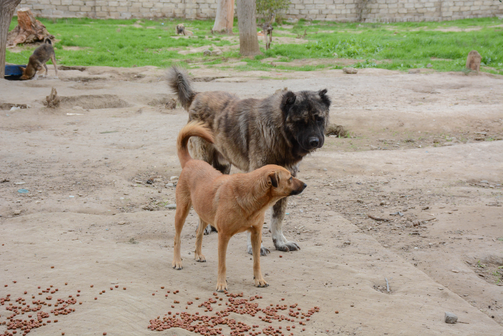
<svg viewBox="0 0 503 336"><path fill-rule="evenodd" d="M252 336L259 334L263 335L274 335L274 336L284 336L285 330L282 326L266 326L262 329L260 325L247 325L244 322L238 322L235 319L229 318L230 313L236 313L240 315L248 314L250 316L256 316L264 322L273 323L274 321L289 321L292 325L286 326L286 332L295 329L296 324L306 325L306 321L310 320L310 317L319 311L319 307L314 307L309 309L307 312L301 312L301 308L298 308L298 304L292 304L290 306L286 304L270 304L266 308L260 308L258 303L253 301L257 299L262 299L262 296L256 295L249 299L243 299L243 293L241 294L229 294L227 291L224 294L228 297L225 305L227 307L221 307L221 310L216 311L214 315L200 315L199 312L195 314L190 314L188 312L175 312L171 311L164 314L164 317L157 316L157 318L151 319L148 328L150 330L162 331L170 328L183 328L189 331L194 331L200 333L201 335L220 335L223 333L222 327L220 325L227 325L230 328L231 336L245 335L248 333ZM213 311L211 304L215 304L222 301L223 298L219 298L217 293L213 293L214 298L209 298L207 301L201 303L198 307L204 307L204 311ZM198 300L199 298L196 298ZM218 301L217 301L218 300ZM281 299L284 301L284 299ZM191 302L192 303L192 302ZM187 302L189 304L189 302ZM219 304L219 306L221 303ZM172 306L174 307L174 306ZM186 308L188 308L186 306ZM220 308L215 308L218 310ZM281 314L282 311L288 310L288 313ZM288 315L288 316L285 316ZM305 328L302 328L305 330ZM293 335L290 332L289 335Z"/></svg>

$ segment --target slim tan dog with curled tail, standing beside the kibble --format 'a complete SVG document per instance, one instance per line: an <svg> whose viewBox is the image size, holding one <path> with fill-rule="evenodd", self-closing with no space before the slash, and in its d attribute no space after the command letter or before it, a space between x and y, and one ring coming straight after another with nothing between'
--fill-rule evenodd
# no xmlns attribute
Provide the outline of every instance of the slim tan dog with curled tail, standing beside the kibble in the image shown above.
<svg viewBox="0 0 503 336"><path fill-rule="evenodd" d="M190 122L178 135L177 150L182 173L176 191L173 268L183 268L180 234L193 206L201 221L196 231L196 261L206 261L201 253L206 225L211 224L218 230L217 291L227 290L225 254L229 239L243 231L251 233L255 286L269 286L260 271L264 214L279 199L301 193L306 184L277 165L267 165L246 174L222 174L208 163L191 158L187 148L190 137L200 137L210 144L214 143L210 130L200 122Z"/></svg>

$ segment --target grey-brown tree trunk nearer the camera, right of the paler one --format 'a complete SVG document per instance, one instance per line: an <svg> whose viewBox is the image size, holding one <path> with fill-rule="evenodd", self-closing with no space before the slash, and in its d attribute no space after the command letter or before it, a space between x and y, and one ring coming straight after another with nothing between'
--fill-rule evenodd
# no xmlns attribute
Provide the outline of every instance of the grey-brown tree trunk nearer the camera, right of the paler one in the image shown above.
<svg viewBox="0 0 503 336"><path fill-rule="evenodd" d="M239 27L239 53L243 56L260 54L255 0L237 0L237 24Z"/></svg>

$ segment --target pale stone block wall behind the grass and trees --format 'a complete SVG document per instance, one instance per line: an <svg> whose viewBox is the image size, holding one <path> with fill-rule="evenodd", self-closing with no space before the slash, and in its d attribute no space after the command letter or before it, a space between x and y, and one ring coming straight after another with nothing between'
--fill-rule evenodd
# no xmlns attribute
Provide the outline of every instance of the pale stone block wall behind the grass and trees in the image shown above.
<svg viewBox="0 0 503 336"><path fill-rule="evenodd" d="M329 21L404 22L503 17L498 0L291 0L282 15ZM22 0L46 18L214 18L217 0Z"/></svg>

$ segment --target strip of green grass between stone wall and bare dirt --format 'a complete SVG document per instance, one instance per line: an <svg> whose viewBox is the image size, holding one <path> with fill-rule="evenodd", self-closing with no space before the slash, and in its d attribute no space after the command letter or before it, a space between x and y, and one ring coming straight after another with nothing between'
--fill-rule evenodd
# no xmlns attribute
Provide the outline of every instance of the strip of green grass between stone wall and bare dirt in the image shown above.
<svg viewBox="0 0 503 336"><path fill-rule="evenodd" d="M56 57L64 65L143 66L165 68L175 62L189 60L213 66L228 58L240 59L238 50L224 52L223 57L203 57L202 53L182 55L180 50L204 45L223 47L231 42L223 36L211 35L213 21L184 21L193 32L191 38L173 38L175 26L181 20L96 20L40 19L59 41ZM294 59L350 58L359 60L355 68L407 70L425 68L431 64L438 71L463 71L466 55L477 50L482 55L485 70L503 74L503 21L497 18L466 19L448 22L405 23L337 23L299 20L293 26L275 26L275 37L295 38L306 32L306 43L278 43L255 58L243 58L241 71L313 71L336 69L335 63L289 67L262 63L266 57L288 62ZM16 26L16 18L11 29ZM285 22L286 24L286 22ZM237 22L234 34L238 36ZM237 39L236 39L237 40ZM292 41L293 42L293 41ZM32 47L21 52L7 51L7 61L24 64Z"/></svg>

